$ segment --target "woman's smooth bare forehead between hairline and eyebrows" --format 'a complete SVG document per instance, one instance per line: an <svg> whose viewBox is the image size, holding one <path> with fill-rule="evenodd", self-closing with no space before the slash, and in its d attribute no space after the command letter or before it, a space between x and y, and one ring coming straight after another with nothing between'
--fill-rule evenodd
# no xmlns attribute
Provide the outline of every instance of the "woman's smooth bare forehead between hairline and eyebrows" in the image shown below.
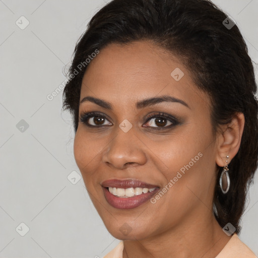
<svg viewBox="0 0 258 258"><path fill-rule="evenodd" d="M179 58L150 42L137 41L109 44L100 50L88 64L80 99L92 96L126 104L165 94L189 105L193 95L207 102Z"/></svg>

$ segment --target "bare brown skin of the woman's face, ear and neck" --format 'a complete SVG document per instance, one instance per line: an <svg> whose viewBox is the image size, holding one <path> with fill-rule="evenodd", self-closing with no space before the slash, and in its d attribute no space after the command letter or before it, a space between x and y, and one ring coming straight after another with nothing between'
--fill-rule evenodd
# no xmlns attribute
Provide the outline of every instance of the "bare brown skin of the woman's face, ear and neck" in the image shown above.
<svg viewBox="0 0 258 258"><path fill-rule="evenodd" d="M175 68L184 73L179 81L170 75ZM162 95L188 107L160 102L136 108L136 102ZM112 110L90 101L80 104L79 116L98 111L109 120L102 128L79 122L75 159L106 228L123 240L123 257L215 257L231 238L212 212L216 174L239 149L243 114L214 134L209 97L192 82L179 58L147 41L101 49L83 78L80 100L86 96L109 102ZM161 125L145 116L156 112L175 116L179 124L155 130ZM119 128L124 119L133 125L127 133ZM171 124L165 121L163 126ZM91 124L99 126L93 119ZM200 152L203 156L155 204L121 210L106 202L104 180L136 178L162 189ZM126 236L119 230L124 223L132 230Z"/></svg>

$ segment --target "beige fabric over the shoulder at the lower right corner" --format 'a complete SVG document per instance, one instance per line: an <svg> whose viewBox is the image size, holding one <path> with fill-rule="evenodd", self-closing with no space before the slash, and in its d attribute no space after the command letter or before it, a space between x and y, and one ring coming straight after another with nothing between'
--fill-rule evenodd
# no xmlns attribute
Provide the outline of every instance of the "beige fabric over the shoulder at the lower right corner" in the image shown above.
<svg viewBox="0 0 258 258"><path fill-rule="evenodd" d="M251 249L234 234L215 258L257 258Z"/></svg>

